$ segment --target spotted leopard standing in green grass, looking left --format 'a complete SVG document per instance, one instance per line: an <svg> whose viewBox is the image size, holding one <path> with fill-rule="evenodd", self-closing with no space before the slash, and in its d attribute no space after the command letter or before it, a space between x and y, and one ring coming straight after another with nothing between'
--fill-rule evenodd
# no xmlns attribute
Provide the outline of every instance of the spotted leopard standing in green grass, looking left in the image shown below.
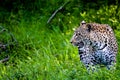
<svg viewBox="0 0 120 80"><path fill-rule="evenodd" d="M108 24L82 21L70 40L78 47L81 62L87 70L103 65L115 68L118 44L113 29Z"/></svg>

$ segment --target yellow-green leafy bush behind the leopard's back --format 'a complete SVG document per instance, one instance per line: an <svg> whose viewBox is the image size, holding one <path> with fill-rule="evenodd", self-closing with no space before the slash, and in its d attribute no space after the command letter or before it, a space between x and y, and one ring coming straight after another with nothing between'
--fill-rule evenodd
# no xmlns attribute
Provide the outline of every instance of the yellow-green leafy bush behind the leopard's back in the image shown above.
<svg viewBox="0 0 120 80"><path fill-rule="evenodd" d="M109 24L112 26L112 28L119 29L119 13L120 11L117 10L118 6L111 5L111 6L103 6L99 10L91 9L89 10L89 14L86 12L81 13L80 15L83 18L86 18L86 21L88 22L98 22L98 23L104 23Z"/></svg>

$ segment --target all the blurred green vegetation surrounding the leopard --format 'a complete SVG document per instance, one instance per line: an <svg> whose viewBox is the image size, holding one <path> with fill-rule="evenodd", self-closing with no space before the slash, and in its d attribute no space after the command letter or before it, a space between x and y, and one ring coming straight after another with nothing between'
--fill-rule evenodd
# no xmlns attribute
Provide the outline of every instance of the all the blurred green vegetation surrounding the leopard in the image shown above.
<svg viewBox="0 0 120 80"><path fill-rule="evenodd" d="M64 3L53 17L47 20ZM69 40L82 20L109 24L120 45L119 0L0 0L0 42L17 44L0 52L0 80L119 80L120 50L115 71L88 74ZM1 30L0 30L1 31ZM120 46L118 46L120 48ZM1 49L0 49L1 50Z"/></svg>

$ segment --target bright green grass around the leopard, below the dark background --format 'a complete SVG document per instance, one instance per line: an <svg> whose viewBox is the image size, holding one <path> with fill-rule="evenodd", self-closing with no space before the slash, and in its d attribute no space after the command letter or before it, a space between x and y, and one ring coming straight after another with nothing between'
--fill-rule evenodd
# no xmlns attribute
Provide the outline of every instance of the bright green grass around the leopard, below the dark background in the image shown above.
<svg viewBox="0 0 120 80"><path fill-rule="evenodd" d="M17 25L10 21L10 27L3 24L18 44L7 54L10 60L0 64L0 80L120 80L120 51L115 71L101 68L88 74L79 61L77 48L69 42L74 26L67 29L63 23L63 31L55 25L51 29L45 24L46 17L37 17L31 21L22 18ZM120 45L120 32L116 30L115 34Z"/></svg>

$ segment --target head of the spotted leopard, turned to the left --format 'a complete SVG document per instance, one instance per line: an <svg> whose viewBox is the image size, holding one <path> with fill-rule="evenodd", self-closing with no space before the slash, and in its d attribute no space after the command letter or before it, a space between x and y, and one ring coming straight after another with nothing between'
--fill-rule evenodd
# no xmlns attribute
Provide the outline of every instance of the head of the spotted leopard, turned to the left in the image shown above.
<svg viewBox="0 0 120 80"><path fill-rule="evenodd" d="M74 46L83 47L85 45L84 41L89 39L89 34L91 30L92 26L82 21L80 27L75 30L70 40L71 44L73 44Z"/></svg>

